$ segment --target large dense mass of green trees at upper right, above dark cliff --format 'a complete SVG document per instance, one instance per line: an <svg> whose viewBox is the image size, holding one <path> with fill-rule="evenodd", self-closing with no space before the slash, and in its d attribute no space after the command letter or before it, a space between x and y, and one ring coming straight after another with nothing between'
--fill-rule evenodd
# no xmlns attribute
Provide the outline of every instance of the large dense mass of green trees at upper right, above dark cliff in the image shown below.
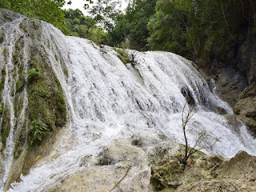
<svg viewBox="0 0 256 192"><path fill-rule="evenodd" d="M187 58L209 58L218 46L225 55L232 42L244 41L255 29L255 6L253 0L158 0L148 46Z"/></svg>

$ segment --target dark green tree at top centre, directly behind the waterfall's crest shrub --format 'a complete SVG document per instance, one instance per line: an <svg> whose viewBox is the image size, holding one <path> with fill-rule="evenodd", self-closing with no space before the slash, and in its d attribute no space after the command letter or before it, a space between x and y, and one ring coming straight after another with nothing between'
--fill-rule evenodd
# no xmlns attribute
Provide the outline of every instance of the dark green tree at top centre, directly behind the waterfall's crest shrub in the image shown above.
<svg viewBox="0 0 256 192"><path fill-rule="evenodd" d="M115 46L128 45L123 48L147 49L147 23L155 14L156 2L157 0L134 0L127 7L126 14L117 15L116 24L110 33Z"/></svg>

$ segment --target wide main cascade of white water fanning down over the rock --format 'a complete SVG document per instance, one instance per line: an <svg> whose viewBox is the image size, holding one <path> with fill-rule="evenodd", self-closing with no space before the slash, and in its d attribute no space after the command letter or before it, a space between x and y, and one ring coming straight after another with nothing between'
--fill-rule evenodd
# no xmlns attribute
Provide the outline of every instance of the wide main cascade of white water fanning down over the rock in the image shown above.
<svg viewBox="0 0 256 192"><path fill-rule="evenodd" d="M10 28L16 25L13 22ZM210 91L185 58L159 51L127 50L129 54L136 53L136 64L124 65L113 48L66 37L45 22L42 22L42 34L42 44L66 96L70 123L50 157L61 155L40 162L30 174L21 177L22 182L13 183L10 191L46 191L59 178L81 169L79 163L86 154L96 157L114 139L130 138L140 130L156 130L171 141L183 143L181 117L186 98L181 90L184 87L198 103L198 112L188 125L191 144L199 132L207 130L213 137L221 138L213 148L203 144L207 154L232 157L239 150L256 154L256 142L246 127L233 130L226 118L218 114L218 109L228 114L233 112ZM67 79L63 63L56 62L55 54L68 69Z"/></svg>

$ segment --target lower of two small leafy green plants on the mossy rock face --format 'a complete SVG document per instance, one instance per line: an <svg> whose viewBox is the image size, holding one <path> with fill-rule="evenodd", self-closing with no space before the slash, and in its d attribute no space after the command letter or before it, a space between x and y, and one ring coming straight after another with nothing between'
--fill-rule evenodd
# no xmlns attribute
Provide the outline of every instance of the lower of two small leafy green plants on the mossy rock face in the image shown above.
<svg viewBox="0 0 256 192"><path fill-rule="evenodd" d="M30 124L30 131L31 131L31 140L30 144L39 140L42 142L42 138L49 134L48 126L43 122L38 122L37 120L33 120Z"/></svg>

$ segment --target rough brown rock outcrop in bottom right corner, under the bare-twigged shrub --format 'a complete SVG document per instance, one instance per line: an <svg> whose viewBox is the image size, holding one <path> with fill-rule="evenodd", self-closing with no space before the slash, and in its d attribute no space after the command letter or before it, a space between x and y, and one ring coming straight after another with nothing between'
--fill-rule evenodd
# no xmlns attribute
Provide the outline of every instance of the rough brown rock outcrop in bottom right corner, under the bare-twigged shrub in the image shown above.
<svg viewBox="0 0 256 192"><path fill-rule="evenodd" d="M177 156L166 155L151 169L151 184L156 191L255 191L256 157L240 151L224 159L194 154L190 166L182 171Z"/></svg>

